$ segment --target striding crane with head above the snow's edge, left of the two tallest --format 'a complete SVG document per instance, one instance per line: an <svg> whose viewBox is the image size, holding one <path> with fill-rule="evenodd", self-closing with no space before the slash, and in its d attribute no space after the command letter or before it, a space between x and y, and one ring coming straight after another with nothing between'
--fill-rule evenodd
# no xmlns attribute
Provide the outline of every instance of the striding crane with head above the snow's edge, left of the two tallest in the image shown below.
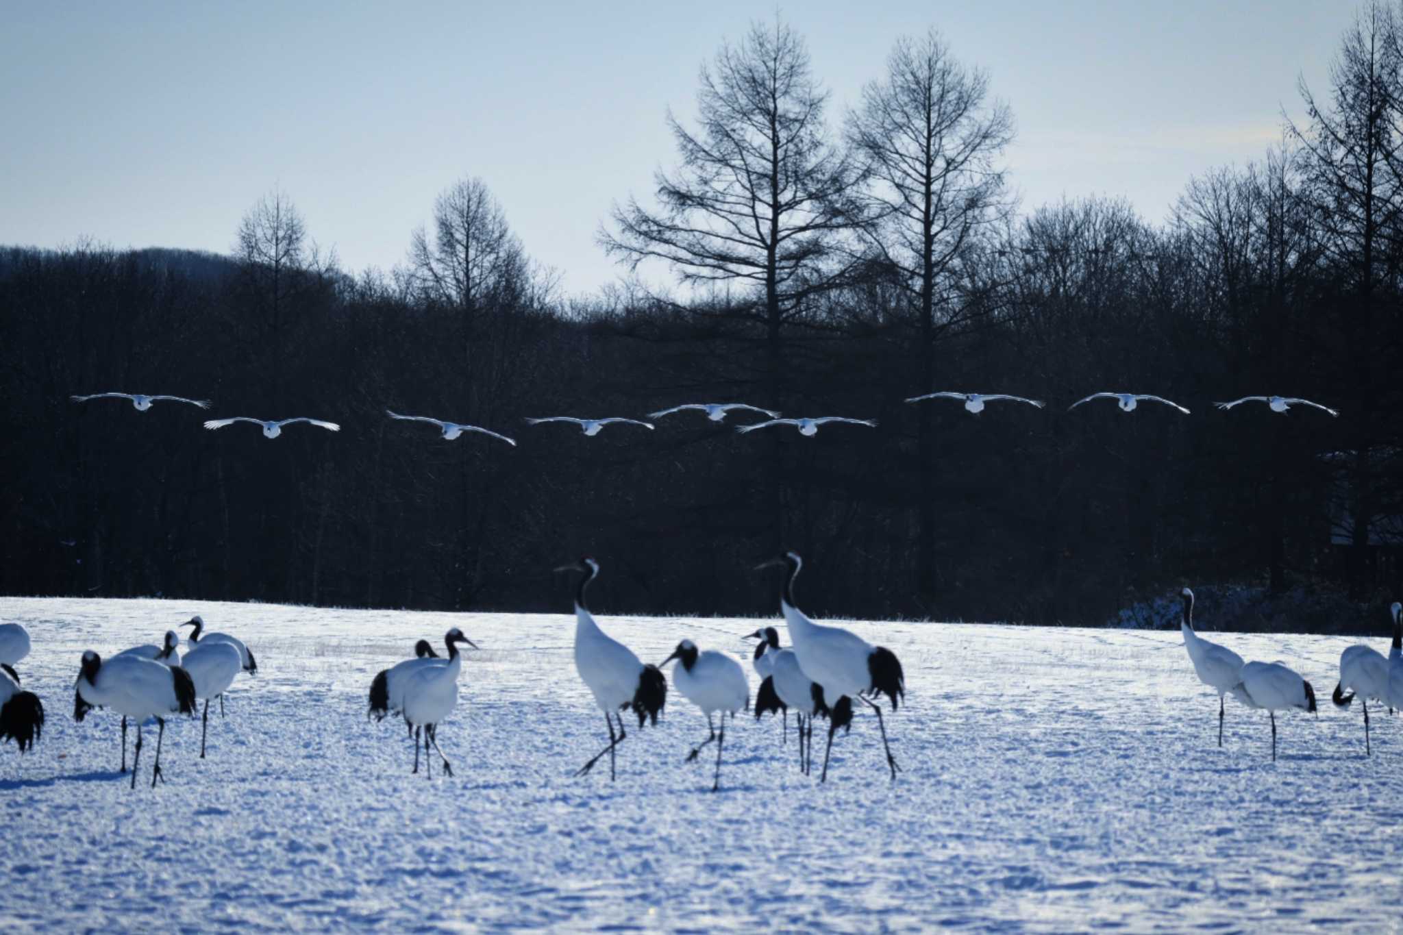
<svg viewBox="0 0 1403 935"><path fill-rule="evenodd" d="M657 725L658 714L666 704L668 680L657 666L645 666L631 649L599 629L593 614L585 607L585 589L599 575L599 562L585 557L577 565L565 565L556 571L581 573L579 585L575 587L575 671L595 697L595 704L605 714L605 725L609 728L609 746L591 757L575 775L582 777L589 772L607 753L609 778L613 779L615 749L629 736L623 726L623 715L619 712L631 708L638 716L640 729L648 718ZM619 722L617 735L615 719Z"/></svg>

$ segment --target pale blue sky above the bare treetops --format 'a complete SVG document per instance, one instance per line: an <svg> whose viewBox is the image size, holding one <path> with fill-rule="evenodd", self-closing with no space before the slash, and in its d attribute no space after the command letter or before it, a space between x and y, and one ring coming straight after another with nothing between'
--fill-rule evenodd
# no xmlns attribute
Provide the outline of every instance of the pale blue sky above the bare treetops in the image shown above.
<svg viewBox="0 0 1403 935"><path fill-rule="evenodd" d="M784 6L836 122L892 41L939 28L1019 128L1031 209L1118 195L1163 219L1190 175L1257 158L1324 90L1354 4L852 0ZM359 271L403 261L435 195L480 175L568 292L617 269L610 202L675 161L664 115L774 6L10 3L0 14L0 244L81 236L227 251L275 184Z"/></svg>

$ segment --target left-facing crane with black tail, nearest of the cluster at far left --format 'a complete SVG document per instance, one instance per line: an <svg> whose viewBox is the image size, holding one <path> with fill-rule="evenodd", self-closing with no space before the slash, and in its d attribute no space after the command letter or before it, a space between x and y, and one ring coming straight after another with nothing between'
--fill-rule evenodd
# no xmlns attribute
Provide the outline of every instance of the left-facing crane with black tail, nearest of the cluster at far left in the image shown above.
<svg viewBox="0 0 1403 935"><path fill-rule="evenodd" d="M81 722L88 708L111 708L136 721L136 756L132 760L132 788L136 788L136 768L142 760L142 722L156 718L156 765L152 785L161 779L161 739L166 718L173 714L195 714L195 683L180 666L163 666L139 656L114 656L102 662L91 649L83 653L74 685L73 719ZM126 737L122 737L122 761L126 763Z"/></svg>

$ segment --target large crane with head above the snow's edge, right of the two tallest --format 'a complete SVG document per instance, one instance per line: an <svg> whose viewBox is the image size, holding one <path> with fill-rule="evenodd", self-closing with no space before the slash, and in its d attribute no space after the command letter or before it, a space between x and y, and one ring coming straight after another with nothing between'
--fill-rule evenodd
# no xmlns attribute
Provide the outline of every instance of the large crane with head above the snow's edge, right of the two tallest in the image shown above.
<svg viewBox="0 0 1403 935"><path fill-rule="evenodd" d="M877 715L882 749L887 751L887 765L892 781L897 779L897 757L887 743L887 723L881 707L867 695L887 695L891 709L897 711L898 699L906 694L906 677L897 655L884 646L873 646L866 639L840 627L815 624L794 606L794 579L798 578L804 561L797 552L786 552L780 558L765 562L760 568L783 565L784 586L780 592L780 611L788 625L794 655L800 669L822 687L824 704L829 709L828 747L824 750L824 772L819 782L828 778L828 756L833 749L833 735L839 728L852 723L852 699L857 698Z"/></svg>

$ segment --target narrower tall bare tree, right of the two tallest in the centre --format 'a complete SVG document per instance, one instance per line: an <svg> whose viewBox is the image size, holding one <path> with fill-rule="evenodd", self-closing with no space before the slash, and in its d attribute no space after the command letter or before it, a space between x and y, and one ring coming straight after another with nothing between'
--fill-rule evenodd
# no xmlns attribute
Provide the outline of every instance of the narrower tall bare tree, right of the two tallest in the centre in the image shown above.
<svg viewBox="0 0 1403 935"><path fill-rule="evenodd" d="M989 77L957 62L940 34L898 39L887 74L863 88L847 139L867 163L867 243L908 297L919 329L915 374L934 380L934 342L982 303L953 300L971 240L1007 207L999 154L1013 140L1009 108L989 98ZM929 408L919 414L922 465L934 457ZM920 506L920 582L934 593L933 500Z"/></svg>

